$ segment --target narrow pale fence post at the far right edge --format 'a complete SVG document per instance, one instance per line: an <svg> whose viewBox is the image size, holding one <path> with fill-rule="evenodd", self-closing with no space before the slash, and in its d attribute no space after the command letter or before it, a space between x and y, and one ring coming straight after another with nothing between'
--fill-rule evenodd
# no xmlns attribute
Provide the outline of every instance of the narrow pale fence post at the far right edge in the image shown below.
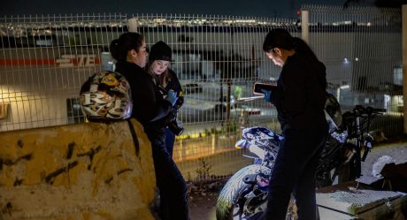
<svg viewBox="0 0 407 220"><path fill-rule="evenodd" d="M407 133L407 4L402 10L402 42L403 42L403 131Z"/></svg>

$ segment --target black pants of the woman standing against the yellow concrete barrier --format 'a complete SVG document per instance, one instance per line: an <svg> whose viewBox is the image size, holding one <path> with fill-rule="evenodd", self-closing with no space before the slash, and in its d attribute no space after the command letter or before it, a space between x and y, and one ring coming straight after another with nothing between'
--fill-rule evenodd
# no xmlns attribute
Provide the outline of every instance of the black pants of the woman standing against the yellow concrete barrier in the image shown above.
<svg viewBox="0 0 407 220"><path fill-rule="evenodd" d="M163 220L188 220L187 185L165 148L165 130L148 127L145 132L151 141L154 170L160 191L160 216Z"/></svg>

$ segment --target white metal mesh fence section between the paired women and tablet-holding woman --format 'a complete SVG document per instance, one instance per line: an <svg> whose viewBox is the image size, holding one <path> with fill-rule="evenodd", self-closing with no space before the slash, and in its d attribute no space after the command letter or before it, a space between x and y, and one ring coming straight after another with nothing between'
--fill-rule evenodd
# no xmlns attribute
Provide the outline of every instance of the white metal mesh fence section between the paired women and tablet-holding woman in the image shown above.
<svg viewBox="0 0 407 220"><path fill-rule="evenodd" d="M134 16L146 42L167 42L172 68L184 88L179 118L186 132L177 138L174 160L188 179L219 178L250 163L234 149L240 127L277 128L276 112L252 95L256 80L269 80L278 70L265 59L263 38L271 27L296 30L295 20L225 16ZM150 26L145 24L153 23ZM143 25L144 24L144 25ZM204 159L203 159L204 158ZM211 176L212 175L212 176Z"/></svg>

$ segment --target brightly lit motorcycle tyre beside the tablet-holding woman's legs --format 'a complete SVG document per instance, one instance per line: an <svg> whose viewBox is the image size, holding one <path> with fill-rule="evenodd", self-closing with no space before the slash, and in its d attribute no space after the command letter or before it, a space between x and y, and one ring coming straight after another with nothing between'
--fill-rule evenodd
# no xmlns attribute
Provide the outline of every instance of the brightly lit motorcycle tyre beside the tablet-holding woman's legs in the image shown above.
<svg viewBox="0 0 407 220"><path fill-rule="evenodd" d="M240 216L234 213L234 208L240 195L248 186L248 184L243 182L243 178L248 174L258 173L258 171L260 171L260 165L252 164L234 173L227 181L227 184L223 187L222 191L220 191L218 201L216 202L217 220L240 219Z"/></svg>

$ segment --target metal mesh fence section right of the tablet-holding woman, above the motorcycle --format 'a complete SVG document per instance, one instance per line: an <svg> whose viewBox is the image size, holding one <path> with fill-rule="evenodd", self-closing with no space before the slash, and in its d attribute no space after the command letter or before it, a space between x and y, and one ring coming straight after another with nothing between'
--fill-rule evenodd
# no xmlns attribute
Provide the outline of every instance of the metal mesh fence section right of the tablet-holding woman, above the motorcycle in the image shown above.
<svg viewBox="0 0 407 220"><path fill-rule="evenodd" d="M303 5L310 45L326 64L329 90L342 111L360 104L387 109L372 130L403 133L402 20L400 9Z"/></svg>

